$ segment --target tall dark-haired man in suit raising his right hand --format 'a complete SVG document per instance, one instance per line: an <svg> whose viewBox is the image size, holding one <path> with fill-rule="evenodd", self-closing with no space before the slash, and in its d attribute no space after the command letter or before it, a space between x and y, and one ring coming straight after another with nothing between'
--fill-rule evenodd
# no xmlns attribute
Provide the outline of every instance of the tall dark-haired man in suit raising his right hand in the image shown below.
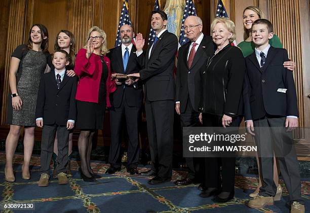
<svg viewBox="0 0 310 213"><path fill-rule="evenodd" d="M145 82L145 111L149 146L153 168L141 175L155 175L149 184L161 184L171 180L173 150L173 69L178 48L177 37L166 30L167 14L152 11L151 27L157 36L142 54L142 34L136 37L138 59L144 66L139 73L130 76Z"/></svg>

